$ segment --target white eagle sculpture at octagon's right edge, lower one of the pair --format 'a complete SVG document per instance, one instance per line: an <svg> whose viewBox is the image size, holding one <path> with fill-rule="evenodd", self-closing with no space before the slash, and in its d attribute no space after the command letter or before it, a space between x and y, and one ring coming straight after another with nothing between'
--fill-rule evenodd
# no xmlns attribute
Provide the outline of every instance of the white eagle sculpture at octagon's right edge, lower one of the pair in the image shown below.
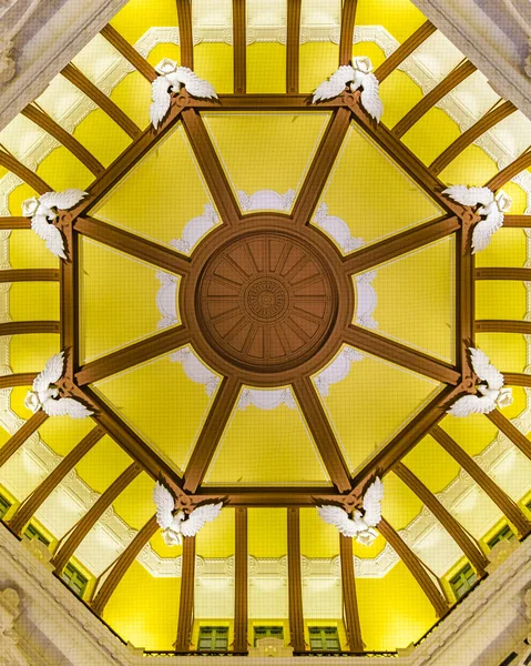
<svg viewBox="0 0 531 666"><path fill-rule="evenodd" d="M470 414L489 414L496 407L508 407L512 404L511 389L503 386L503 375L499 372L488 356L481 351L469 347L473 372L484 382L479 384L481 395L463 395L448 410L452 416L469 416Z"/></svg>

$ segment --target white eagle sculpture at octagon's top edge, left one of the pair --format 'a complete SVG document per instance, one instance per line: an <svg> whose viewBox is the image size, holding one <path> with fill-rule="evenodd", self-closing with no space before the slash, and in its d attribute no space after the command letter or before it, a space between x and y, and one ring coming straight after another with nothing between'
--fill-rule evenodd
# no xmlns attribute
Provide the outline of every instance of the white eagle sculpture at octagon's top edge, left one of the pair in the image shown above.
<svg viewBox="0 0 531 666"><path fill-rule="evenodd" d="M200 79L187 67L178 67L175 60L164 58L155 67L155 72L160 75L151 84L153 103L150 107L150 120L155 130L170 110L172 102L170 91L178 92L184 85L186 92L192 97L201 99L217 98L216 91L208 81Z"/></svg>

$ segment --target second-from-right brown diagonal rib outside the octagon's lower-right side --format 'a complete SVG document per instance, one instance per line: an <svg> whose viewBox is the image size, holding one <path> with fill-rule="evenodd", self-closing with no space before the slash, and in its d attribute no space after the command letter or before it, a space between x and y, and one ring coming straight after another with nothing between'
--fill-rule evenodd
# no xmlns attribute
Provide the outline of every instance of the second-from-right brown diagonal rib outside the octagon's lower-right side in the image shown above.
<svg viewBox="0 0 531 666"><path fill-rule="evenodd" d="M517 527L521 536L531 532L531 523L528 521L518 504L513 502L493 481L483 472L478 463L459 446L441 427L436 425L431 428L430 435L447 451L452 458L461 465L473 481L487 493L494 502L503 515Z"/></svg>

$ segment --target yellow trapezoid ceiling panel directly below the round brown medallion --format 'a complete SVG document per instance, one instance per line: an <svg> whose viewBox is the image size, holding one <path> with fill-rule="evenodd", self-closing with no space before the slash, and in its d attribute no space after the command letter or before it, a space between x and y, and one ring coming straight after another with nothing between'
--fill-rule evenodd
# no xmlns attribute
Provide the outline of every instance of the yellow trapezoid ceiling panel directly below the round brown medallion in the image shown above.
<svg viewBox="0 0 531 666"><path fill-rule="evenodd" d="M329 480L304 416L290 402L265 410L254 404L236 406L205 483L274 486L328 484Z"/></svg>

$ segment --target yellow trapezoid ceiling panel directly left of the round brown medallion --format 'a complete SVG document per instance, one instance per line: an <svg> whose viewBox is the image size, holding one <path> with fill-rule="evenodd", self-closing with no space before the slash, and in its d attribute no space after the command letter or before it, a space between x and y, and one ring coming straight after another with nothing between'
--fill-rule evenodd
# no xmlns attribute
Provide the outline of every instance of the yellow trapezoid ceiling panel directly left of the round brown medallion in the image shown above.
<svg viewBox="0 0 531 666"><path fill-rule="evenodd" d="M172 281L170 287L175 281L175 294L178 294L177 276L112 248L81 239L80 356L84 362L157 332L159 323L165 321L157 309L164 276ZM173 302L180 321L176 300Z"/></svg>

